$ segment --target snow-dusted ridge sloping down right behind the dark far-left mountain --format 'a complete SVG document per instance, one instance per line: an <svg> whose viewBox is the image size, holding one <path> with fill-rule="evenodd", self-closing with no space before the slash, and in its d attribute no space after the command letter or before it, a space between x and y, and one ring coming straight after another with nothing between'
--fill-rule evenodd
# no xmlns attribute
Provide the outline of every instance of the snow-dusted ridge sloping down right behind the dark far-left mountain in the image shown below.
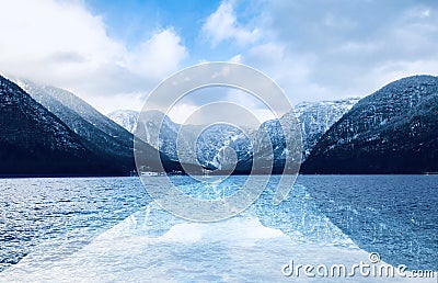
<svg viewBox="0 0 438 283"><path fill-rule="evenodd" d="M136 169L131 133L69 91L23 79L15 81L35 103L39 103L79 137L87 150L91 151L89 158L100 160L99 174L128 174ZM137 142L137 150L147 156L150 171L162 170L160 156L164 170L181 171L177 162L170 161L147 143Z"/></svg>

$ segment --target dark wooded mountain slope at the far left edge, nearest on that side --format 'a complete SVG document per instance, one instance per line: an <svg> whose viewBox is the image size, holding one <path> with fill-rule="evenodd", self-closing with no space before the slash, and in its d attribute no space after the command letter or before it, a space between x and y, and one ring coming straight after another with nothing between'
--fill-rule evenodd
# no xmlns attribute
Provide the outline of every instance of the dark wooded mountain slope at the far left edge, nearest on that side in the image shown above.
<svg viewBox="0 0 438 283"><path fill-rule="evenodd" d="M105 168L80 136L1 76L0 159L1 176L93 174Z"/></svg>

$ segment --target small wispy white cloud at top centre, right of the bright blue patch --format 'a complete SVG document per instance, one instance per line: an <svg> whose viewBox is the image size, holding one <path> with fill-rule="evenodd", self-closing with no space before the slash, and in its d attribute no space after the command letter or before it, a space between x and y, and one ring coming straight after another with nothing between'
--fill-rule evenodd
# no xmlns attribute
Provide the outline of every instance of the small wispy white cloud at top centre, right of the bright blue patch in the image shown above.
<svg viewBox="0 0 438 283"><path fill-rule="evenodd" d="M203 32L212 43L218 45L221 42L233 39L239 45L254 43L258 39L257 29L246 29L237 19L232 2L222 2L218 10L212 13L203 26Z"/></svg>

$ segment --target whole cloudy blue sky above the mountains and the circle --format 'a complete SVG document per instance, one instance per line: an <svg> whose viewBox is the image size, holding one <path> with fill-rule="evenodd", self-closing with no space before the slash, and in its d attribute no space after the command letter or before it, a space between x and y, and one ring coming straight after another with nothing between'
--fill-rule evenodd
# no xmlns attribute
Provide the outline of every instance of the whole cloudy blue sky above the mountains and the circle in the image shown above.
<svg viewBox="0 0 438 283"><path fill-rule="evenodd" d="M403 77L438 75L436 0L0 5L0 73L70 90L104 114L140 110L162 80L206 61L256 68L292 104L365 97ZM187 99L175 113L198 103Z"/></svg>

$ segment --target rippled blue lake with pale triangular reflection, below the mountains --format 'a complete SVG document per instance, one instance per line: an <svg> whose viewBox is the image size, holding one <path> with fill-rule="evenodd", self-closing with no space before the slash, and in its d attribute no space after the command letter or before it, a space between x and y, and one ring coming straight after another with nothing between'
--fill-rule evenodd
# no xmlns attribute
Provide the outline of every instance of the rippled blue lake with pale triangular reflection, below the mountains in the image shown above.
<svg viewBox="0 0 438 283"><path fill-rule="evenodd" d="M162 178L150 177L151 185ZM307 282L281 268L354 264L370 252L394 267L438 270L438 176L300 176L274 206L278 178L245 212L209 224L163 211L138 178L2 179L0 281ZM216 199L245 177L172 181ZM348 281L321 279L330 280Z"/></svg>

